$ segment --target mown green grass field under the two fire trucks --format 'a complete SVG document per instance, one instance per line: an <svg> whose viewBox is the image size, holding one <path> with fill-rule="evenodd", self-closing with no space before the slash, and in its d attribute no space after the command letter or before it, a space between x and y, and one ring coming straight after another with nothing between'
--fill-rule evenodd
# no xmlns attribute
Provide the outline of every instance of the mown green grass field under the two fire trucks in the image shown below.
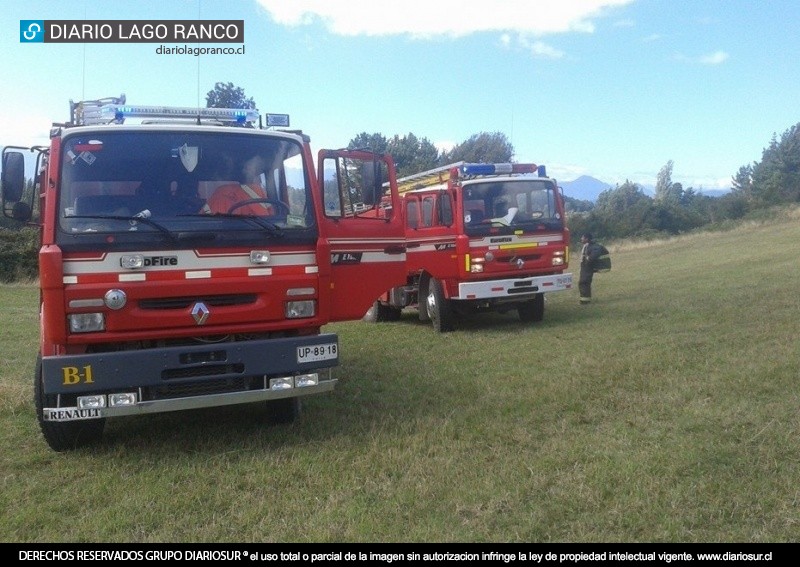
<svg viewBox="0 0 800 567"><path fill-rule="evenodd" d="M0 287L0 541L793 542L794 216L609 246L595 302L438 335L331 325L337 389L109 421L58 454L32 402L34 285Z"/></svg>

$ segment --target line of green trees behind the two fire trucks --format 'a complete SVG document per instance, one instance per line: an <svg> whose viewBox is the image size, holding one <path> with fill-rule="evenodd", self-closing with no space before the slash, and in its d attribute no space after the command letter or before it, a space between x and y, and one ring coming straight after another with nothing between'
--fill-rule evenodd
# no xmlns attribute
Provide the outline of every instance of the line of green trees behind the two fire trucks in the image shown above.
<svg viewBox="0 0 800 567"><path fill-rule="evenodd" d="M206 102L208 107L256 108L255 101L232 83L216 83ZM457 161L514 161L514 147L502 132L479 132L450 149L438 149L428 138L413 133L387 137L361 132L347 147L388 153L398 177ZM773 134L761 160L740 167L731 178L731 191L722 197L673 182L673 167L670 160L661 168L652 197L630 180L604 191L594 203L566 197L573 237L577 239L583 232L604 240L677 235L800 202L800 123L780 136ZM32 180L28 185L26 190L32 191ZM14 228L18 225L0 219L0 281L37 277L38 230L10 230Z"/></svg>

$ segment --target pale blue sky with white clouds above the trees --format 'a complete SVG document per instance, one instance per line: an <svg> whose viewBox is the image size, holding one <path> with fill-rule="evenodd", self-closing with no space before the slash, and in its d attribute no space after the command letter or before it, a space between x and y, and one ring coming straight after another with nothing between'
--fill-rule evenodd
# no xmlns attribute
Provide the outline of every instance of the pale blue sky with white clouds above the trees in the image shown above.
<svg viewBox="0 0 800 567"><path fill-rule="evenodd" d="M465 5L466 4L466 5ZM500 132L559 181L730 187L800 122L797 0L4 2L0 146L46 144L69 101L205 106L216 82L312 149L362 132L450 148ZM20 20L244 20L244 54L27 43ZM197 43L187 43L197 47ZM202 44L241 47L242 44Z"/></svg>

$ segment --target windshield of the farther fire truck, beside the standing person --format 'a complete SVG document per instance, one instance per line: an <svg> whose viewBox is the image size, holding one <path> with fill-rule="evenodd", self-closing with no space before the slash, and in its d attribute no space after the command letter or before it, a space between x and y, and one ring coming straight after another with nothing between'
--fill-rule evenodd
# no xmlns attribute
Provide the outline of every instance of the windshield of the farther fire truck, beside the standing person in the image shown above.
<svg viewBox="0 0 800 567"><path fill-rule="evenodd" d="M549 179L513 178L465 184L462 210L468 234L561 230L557 188ZM494 229L494 230L493 230Z"/></svg>

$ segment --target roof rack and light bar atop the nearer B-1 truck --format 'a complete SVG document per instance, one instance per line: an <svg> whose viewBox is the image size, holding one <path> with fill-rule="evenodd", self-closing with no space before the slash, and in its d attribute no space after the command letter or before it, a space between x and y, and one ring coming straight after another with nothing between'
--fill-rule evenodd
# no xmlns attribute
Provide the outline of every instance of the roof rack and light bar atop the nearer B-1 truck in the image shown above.
<svg viewBox="0 0 800 567"><path fill-rule="evenodd" d="M218 120L226 124L249 125L260 119L253 108L199 108L181 106L128 105L125 95L69 102L70 121L74 126L122 124L126 118L161 118L182 120Z"/></svg>

